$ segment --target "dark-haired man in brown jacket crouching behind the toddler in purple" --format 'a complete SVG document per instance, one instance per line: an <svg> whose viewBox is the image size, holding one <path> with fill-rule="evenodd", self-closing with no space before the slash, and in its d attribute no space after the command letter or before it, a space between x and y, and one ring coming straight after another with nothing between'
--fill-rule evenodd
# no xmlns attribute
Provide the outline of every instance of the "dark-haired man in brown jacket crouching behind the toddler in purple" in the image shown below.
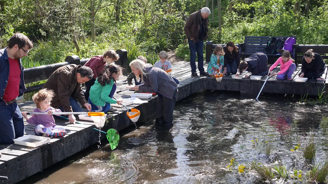
<svg viewBox="0 0 328 184"><path fill-rule="evenodd" d="M58 68L43 86L56 94L51 100L51 106L62 112L82 112L77 103L79 101L90 111L91 105L84 98L81 83L90 81L92 76L92 69L88 66L69 64ZM75 123L74 115L68 118L71 123Z"/></svg>

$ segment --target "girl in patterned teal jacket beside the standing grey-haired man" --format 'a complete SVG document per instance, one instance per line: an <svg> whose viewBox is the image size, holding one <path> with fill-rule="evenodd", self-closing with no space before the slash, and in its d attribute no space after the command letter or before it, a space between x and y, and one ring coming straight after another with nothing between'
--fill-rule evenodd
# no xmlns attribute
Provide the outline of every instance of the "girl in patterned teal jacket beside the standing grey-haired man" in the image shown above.
<svg viewBox="0 0 328 184"><path fill-rule="evenodd" d="M224 50L221 45L217 45L214 49L213 54L211 55L211 61L207 65L207 73L210 74L211 77L215 77L220 73L223 73L223 65L224 65Z"/></svg>

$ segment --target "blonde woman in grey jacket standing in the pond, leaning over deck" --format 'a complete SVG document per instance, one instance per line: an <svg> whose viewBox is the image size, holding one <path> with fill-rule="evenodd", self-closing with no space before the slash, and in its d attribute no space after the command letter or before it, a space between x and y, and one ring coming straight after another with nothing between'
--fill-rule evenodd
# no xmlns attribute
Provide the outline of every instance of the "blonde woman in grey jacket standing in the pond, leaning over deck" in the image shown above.
<svg viewBox="0 0 328 184"><path fill-rule="evenodd" d="M157 93L156 123L165 126L173 124L173 110L177 100L177 84L164 70L146 65L139 59L130 63L132 72L144 86L134 86L134 90ZM140 75L140 76L139 76Z"/></svg>

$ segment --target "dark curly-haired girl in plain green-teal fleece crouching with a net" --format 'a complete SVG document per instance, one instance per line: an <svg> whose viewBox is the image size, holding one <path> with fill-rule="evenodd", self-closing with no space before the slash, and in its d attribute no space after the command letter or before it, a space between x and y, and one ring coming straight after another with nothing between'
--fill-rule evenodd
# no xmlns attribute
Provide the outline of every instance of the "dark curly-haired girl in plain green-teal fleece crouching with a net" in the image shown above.
<svg viewBox="0 0 328 184"><path fill-rule="evenodd" d="M107 112L111 109L111 103L121 104L122 101L113 99L116 90L116 80L122 74L122 68L116 64L109 64L103 70L90 88L89 103L91 111ZM112 108L114 111L116 109Z"/></svg>

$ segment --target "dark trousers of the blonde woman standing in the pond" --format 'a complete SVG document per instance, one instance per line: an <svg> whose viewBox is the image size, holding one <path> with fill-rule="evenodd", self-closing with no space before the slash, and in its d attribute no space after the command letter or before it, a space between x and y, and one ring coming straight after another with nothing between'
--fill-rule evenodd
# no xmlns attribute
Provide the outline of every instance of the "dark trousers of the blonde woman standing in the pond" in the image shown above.
<svg viewBox="0 0 328 184"><path fill-rule="evenodd" d="M176 102L177 89L174 91L173 99L158 95L156 103L156 123L171 125L173 122L173 110Z"/></svg>

